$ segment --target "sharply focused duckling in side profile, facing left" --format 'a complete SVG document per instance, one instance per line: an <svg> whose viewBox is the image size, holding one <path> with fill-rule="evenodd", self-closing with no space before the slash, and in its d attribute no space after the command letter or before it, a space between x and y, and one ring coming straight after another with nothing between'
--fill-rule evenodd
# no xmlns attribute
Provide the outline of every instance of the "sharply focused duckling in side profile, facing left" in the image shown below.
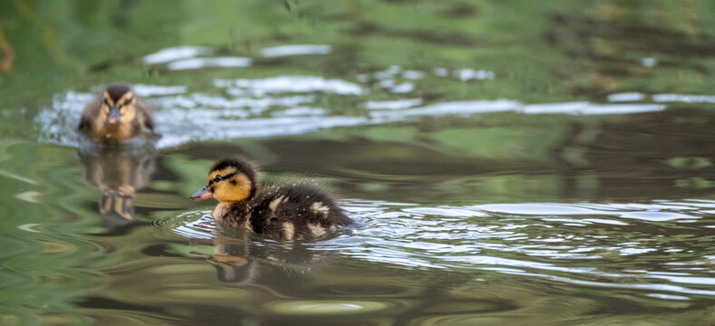
<svg viewBox="0 0 715 326"><path fill-rule="evenodd" d="M283 240L312 240L352 220L335 200L308 185L258 188L256 170L244 158L222 158L209 170L209 185L191 196L214 197L211 216L222 225Z"/></svg>

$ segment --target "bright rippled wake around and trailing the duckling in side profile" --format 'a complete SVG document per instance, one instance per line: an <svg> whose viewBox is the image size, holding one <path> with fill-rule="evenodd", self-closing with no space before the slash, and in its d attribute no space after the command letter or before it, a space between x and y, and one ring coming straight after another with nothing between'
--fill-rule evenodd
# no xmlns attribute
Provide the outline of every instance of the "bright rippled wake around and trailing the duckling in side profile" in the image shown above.
<svg viewBox="0 0 715 326"><path fill-rule="evenodd" d="M693 261L688 254L710 250L709 229L689 230L689 238L700 241L683 241L678 232L683 219L711 219L699 209L713 204L715 201L686 200L428 207L346 200L343 206L357 221L357 226L350 228L351 234L309 247L406 268L488 270L594 287L652 291L652 297L661 299L669 295L715 296L710 289L715 278L707 272L715 259L706 256ZM207 213L191 214L182 218L201 217L181 225L176 232L202 239L213 236L211 217ZM647 230L655 224L670 229L649 233ZM574 229L583 225L589 225L590 231ZM620 266L620 270L614 266Z"/></svg>

